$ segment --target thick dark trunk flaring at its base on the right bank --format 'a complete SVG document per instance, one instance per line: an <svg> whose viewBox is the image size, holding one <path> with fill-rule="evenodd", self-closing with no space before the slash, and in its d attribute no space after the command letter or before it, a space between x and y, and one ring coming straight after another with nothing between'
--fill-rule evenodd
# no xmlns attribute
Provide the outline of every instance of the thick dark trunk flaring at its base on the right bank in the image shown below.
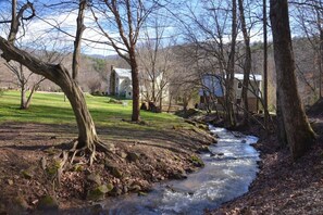
<svg viewBox="0 0 323 215"><path fill-rule="evenodd" d="M300 157L314 141L314 132L305 114L297 91L295 60L287 0L271 0L271 24L281 105L287 143L294 160Z"/></svg>

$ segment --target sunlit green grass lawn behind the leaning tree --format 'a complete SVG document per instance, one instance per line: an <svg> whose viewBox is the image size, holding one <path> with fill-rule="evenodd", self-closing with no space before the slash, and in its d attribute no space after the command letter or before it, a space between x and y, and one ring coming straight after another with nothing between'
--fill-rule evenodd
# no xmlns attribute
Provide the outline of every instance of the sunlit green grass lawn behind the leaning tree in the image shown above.
<svg viewBox="0 0 323 215"><path fill-rule="evenodd" d="M182 118L166 113L140 112L141 119L148 125L137 125L129 121L132 116L132 101L127 105L109 103L108 97L86 94L86 102L97 126L120 128L135 128L139 130L164 129L173 126L187 125ZM5 91L0 97L0 123L39 123L75 125L75 117L70 102L64 102L62 93L36 92L28 110L20 110L20 92Z"/></svg>

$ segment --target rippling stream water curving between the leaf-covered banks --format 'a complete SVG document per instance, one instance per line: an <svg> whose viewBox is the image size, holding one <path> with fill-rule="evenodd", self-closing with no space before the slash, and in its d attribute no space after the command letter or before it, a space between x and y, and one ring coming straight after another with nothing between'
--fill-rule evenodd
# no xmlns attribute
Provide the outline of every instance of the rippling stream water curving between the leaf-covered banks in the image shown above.
<svg viewBox="0 0 323 215"><path fill-rule="evenodd" d="M157 186L145 197L131 194L103 202L109 214L202 214L221 203L248 191L257 176L259 153L251 146L257 137L232 132L210 126L219 136L209 147L211 153L201 154L206 166L189 174L185 180L172 180Z"/></svg>

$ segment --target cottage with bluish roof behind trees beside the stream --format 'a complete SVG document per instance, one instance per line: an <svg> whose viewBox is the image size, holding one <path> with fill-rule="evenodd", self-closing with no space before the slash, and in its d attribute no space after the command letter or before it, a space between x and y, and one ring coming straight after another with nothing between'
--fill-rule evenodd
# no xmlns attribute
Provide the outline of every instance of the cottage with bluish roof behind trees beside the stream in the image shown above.
<svg viewBox="0 0 323 215"><path fill-rule="evenodd" d="M234 79L234 90L236 103L241 102L241 92L243 92L243 80L244 74L235 74ZM261 75L250 75L249 77L249 87L248 87L248 104L249 111L258 112L259 103L257 97L261 96ZM224 79L219 75L206 74L202 77L202 88L199 90L200 96L200 108L204 109L207 103L212 98L215 98L215 103L221 104L224 102ZM219 105L220 108L221 105ZM216 106L218 108L218 106Z"/></svg>

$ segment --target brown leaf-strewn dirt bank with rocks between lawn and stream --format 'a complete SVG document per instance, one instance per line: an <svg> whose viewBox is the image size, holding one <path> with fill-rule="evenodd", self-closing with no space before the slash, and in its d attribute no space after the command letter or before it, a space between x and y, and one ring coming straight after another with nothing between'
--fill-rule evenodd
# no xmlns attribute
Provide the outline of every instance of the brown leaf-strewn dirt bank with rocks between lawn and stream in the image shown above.
<svg viewBox="0 0 323 215"><path fill-rule="evenodd" d="M67 125L0 125L0 214L63 213L127 192L145 194L153 182L185 178L201 167L196 152L214 141L198 126L149 132L98 128L103 141L115 144L115 153L98 153L92 166L80 154L60 175L59 155L76 136L73 130Z"/></svg>

